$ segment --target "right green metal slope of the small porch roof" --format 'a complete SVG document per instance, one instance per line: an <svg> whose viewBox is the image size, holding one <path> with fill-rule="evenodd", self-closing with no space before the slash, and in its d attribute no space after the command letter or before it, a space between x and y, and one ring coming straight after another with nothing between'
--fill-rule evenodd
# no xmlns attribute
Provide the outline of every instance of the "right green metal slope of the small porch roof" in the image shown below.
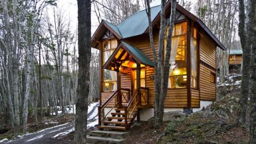
<svg viewBox="0 0 256 144"><path fill-rule="evenodd" d="M128 50L130 50L130 52L132 52L132 54L134 56L136 56L136 58L138 58L140 60L140 62L142 62L142 64L154 66L154 63L138 48L136 48L126 42L122 42L122 44L124 44L124 46L126 46L126 48L128 48Z"/></svg>

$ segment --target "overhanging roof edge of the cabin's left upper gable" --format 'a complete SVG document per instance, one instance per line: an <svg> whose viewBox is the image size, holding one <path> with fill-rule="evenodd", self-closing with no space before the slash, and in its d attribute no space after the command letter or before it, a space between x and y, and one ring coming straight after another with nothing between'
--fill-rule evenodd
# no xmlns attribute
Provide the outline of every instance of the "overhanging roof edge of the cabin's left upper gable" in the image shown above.
<svg viewBox="0 0 256 144"><path fill-rule="evenodd" d="M104 21L104 20L101 21L100 25L98 26L98 28L96 29L96 31L94 32L94 34L92 35L92 38L91 38L93 48L100 49L98 47L98 42L100 41L100 39L106 33L107 30L109 30L111 33L113 33L114 36L116 36L116 38L118 38L118 40L122 39L122 36L120 35L120 33L118 31L115 31L114 29L112 29L112 27L115 27L115 26L110 25L110 23L108 23L107 21Z"/></svg>

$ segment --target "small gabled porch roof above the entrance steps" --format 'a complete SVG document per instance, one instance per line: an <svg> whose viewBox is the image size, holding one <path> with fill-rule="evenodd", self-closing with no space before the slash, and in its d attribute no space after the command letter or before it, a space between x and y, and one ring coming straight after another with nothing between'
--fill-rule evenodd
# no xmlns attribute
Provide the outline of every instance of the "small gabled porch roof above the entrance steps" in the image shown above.
<svg viewBox="0 0 256 144"><path fill-rule="evenodd" d="M124 52L120 49L123 49ZM130 57L132 58L132 60L138 62L138 64L144 64L146 66L152 66L154 67L154 63L138 48L126 43L126 42L121 42L118 47L116 48L116 50L114 50L114 52L111 54L110 58L108 58L108 60L106 61L106 63L104 64L103 68L104 69L111 69L110 64L121 64L122 62L121 59L124 56L125 53L128 53L129 55L127 55L126 57ZM120 54L120 55L118 55ZM128 59L131 59L129 58ZM127 58L125 58L127 59ZM119 62L118 62L119 61Z"/></svg>

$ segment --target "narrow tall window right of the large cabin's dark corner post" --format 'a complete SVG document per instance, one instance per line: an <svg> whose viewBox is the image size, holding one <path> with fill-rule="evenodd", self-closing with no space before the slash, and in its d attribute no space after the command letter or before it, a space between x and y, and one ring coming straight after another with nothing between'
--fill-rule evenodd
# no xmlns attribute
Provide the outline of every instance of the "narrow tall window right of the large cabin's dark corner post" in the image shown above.
<svg viewBox="0 0 256 144"><path fill-rule="evenodd" d="M197 88L197 29L192 28L191 36L191 88Z"/></svg>

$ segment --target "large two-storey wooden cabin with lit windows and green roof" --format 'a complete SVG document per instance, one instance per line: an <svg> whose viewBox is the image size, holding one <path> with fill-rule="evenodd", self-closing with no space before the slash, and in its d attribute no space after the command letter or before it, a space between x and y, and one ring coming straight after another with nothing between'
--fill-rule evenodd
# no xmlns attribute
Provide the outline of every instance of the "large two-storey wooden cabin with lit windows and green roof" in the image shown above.
<svg viewBox="0 0 256 144"><path fill-rule="evenodd" d="M151 14L156 48L160 9L160 5L152 7ZM170 1L165 12L168 19ZM216 48L225 47L200 19L178 4L175 19L164 111L196 111L216 98ZM146 11L118 25L103 20L92 36L92 47L100 50L98 127L125 130L134 119L153 117L154 55Z"/></svg>

